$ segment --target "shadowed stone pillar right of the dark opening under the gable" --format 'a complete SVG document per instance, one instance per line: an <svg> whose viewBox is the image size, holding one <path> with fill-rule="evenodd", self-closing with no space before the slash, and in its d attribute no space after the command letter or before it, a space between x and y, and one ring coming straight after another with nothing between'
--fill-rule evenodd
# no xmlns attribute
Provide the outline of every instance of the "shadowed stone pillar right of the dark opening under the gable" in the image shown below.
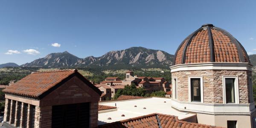
<svg viewBox="0 0 256 128"><path fill-rule="evenodd" d="M98 102L90 102L90 128L98 127Z"/></svg>

